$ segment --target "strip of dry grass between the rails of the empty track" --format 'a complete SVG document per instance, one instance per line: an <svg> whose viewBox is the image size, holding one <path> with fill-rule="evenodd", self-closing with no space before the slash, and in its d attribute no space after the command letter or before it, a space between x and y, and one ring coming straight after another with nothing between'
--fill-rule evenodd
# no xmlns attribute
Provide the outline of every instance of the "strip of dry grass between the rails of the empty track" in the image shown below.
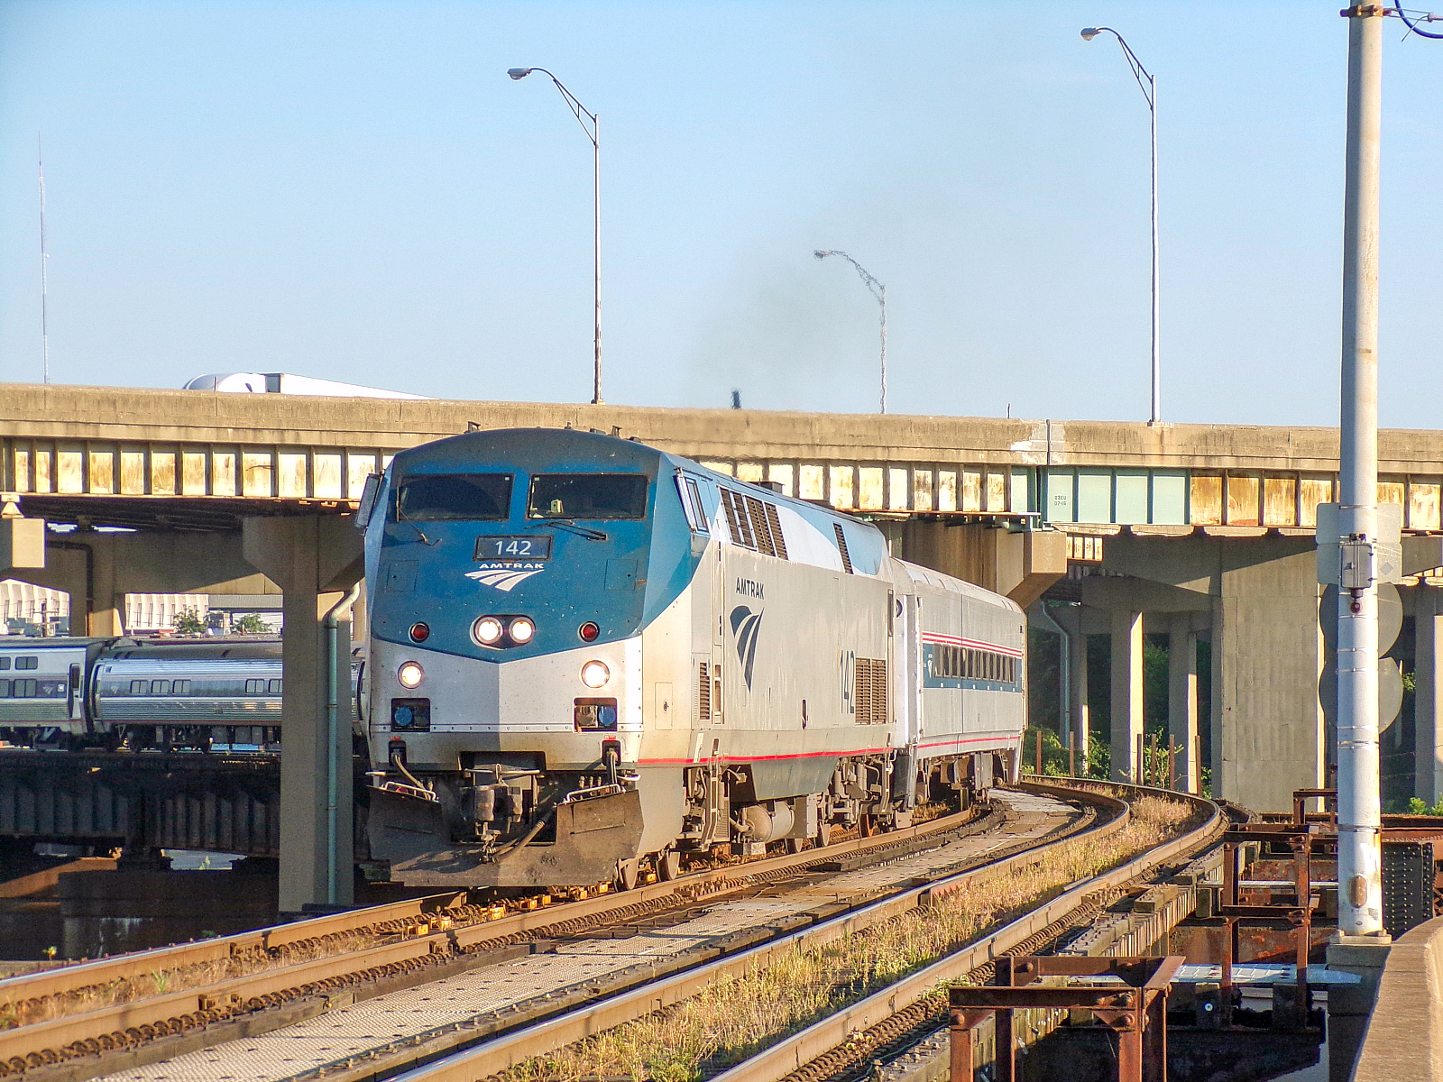
<svg viewBox="0 0 1443 1082"><path fill-rule="evenodd" d="M977 939L1062 887L1176 837L1190 809L1143 796L1117 834L1078 838L1012 871L977 877L929 909L915 909L765 968L723 978L698 995L580 1044L522 1063L505 1082L599 1078L694 1082L736 1063Z"/></svg>

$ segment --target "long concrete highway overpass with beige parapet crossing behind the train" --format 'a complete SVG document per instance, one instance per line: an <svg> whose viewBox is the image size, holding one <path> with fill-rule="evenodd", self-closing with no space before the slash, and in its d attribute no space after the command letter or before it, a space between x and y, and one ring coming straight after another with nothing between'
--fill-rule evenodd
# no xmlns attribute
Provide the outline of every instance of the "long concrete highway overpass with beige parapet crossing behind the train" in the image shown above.
<svg viewBox="0 0 1443 1082"><path fill-rule="evenodd" d="M1255 808L1286 808L1293 789L1328 779L1313 527L1317 503L1336 491L1333 428L7 385L0 495L27 516L143 531L97 541L117 555L89 557L94 633L118 632L120 600L131 590L163 591L170 583L190 591L205 586L199 580L224 583L222 593L274 590L254 577L257 568L306 596L299 607L287 602L287 619L310 613L304 619L315 625L316 606L355 573L346 531L323 521L348 514L365 476L397 450L472 426L633 436L872 515L899 555L1023 603L1052 587L1051 599L1066 604L1048 612L1072 632L1074 729L1091 723L1079 685L1081 636L1111 638L1118 772L1131 767L1141 731L1146 629L1169 633L1177 646L1170 724L1196 776L1195 645L1211 638L1214 791ZM1380 440L1380 499L1401 506L1404 570L1417 576L1443 566L1443 433L1394 430ZM264 518L313 525L264 527ZM163 555L150 545L153 531L169 537ZM312 555L296 570L287 561L302 534ZM342 548L328 554L326 545ZM43 573L10 574L66 580L74 596L84 590L79 555L58 550ZM290 586L280 581L287 576ZM1443 795L1437 581L1424 574L1403 590L1418 628L1408 643L1418 678L1416 792L1430 802ZM1033 610L1049 623L1038 604Z"/></svg>

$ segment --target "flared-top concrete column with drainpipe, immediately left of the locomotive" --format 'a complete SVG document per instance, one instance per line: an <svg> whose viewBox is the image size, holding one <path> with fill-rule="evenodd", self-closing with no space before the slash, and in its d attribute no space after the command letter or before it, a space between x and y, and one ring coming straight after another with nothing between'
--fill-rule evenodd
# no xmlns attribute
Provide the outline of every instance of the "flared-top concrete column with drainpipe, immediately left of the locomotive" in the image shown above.
<svg viewBox="0 0 1443 1082"><path fill-rule="evenodd" d="M348 906L354 902L351 625L338 629L335 669L328 671L325 617L364 573L361 535L341 516L248 518L244 551L284 593L280 912ZM328 739L332 679L341 691Z"/></svg>

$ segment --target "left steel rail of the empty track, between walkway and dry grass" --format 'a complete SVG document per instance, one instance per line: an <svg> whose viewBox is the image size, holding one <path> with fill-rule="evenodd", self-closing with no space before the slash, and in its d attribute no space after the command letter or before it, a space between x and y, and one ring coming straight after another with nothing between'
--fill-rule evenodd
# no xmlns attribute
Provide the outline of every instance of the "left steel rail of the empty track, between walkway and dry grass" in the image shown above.
<svg viewBox="0 0 1443 1082"><path fill-rule="evenodd" d="M1052 789L1048 795L1055 795L1063 801L1084 801L1098 806L1111 808L1117 814L1107 821L1095 822L1085 831L1045 841L1040 845L1027 847L1020 853L947 876L925 886L909 887L899 894L880 902L873 902L843 916L814 925L812 928L792 932L791 935L772 939L747 951L651 981L638 988L593 1003L592 1006L580 1007L560 1017L511 1030L496 1036L495 1039L473 1044L463 1052L444 1056L444 1059L437 1059L433 1063L404 1070L403 1073L390 1073L384 1068L377 1069L380 1068L380 1065L377 1065L377 1068L358 1068L342 1075L329 1075L329 1078L335 1079L335 1082L352 1082L354 1079L359 1081L371 1078L390 1078L391 1082L475 1082L478 1078L501 1073L534 1056L554 1052L556 1049L584 1040L596 1033L633 1021L635 1019L655 1010L687 1000L719 978L742 977L749 968L766 965L769 959L781 958L786 952L802 945L823 946L912 909L925 907L934 899L941 899L977 877L996 874L1014 867L1023 867L1036 861L1042 854L1049 853L1059 845L1075 843L1079 838L1110 837L1111 834L1123 830L1130 819L1127 802L1107 793L1081 789L1056 789L1052 786L1036 788L1039 791ZM1097 890L1097 887L1091 887L1091 890ZM1072 892L1069 892L1069 896L1071 893ZM1023 918L1023 922L1026 920L1027 918ZM1038 925L1038 928L1040 926L1045 926L1045 923ZM1012 928L1012 925L1009 925L1009 928ZM996 933L984 941L980 941L980 944L975 948L971 948L971 951L986 952L990 949L994 939ZM469 1036L470 1040L475 1042L476 1034ZM466 1037L459 1037L457 1043L465 1039Z"/></svg>

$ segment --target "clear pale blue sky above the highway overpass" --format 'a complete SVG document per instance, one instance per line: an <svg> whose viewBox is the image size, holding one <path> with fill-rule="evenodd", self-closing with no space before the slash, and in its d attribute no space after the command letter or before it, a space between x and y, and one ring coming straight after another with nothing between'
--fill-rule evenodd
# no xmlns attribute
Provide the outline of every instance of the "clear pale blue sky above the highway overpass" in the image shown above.
<svg viewBox="0 0 1443 1082"><path fill-rule="evenodd" d="M1235 3L0 0L0 379L1335 424L1346 25ZM1437 25L1436 25L1437 26ZM1443 427L1443 42L1384 59L1382 421Z"/></svg>

